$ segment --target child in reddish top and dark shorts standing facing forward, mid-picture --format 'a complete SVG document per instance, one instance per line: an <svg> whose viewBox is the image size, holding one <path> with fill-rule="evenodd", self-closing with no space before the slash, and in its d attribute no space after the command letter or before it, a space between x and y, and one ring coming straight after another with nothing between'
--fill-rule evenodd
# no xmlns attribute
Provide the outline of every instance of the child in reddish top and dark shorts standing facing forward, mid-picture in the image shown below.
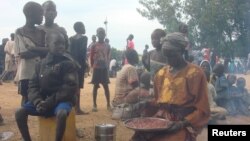
<svg viewBox="0 0 250 141"><path fill-rule="evenodd" d="M93 76L92 76L92 84L94 84L93 87L93 112L97 112L97 104L96 104L96 98L97 98L97 90L99 88L99 84L101 83L106 96L107 101L107 109L111 110L110 107L110 94L109 94L109 77L108 77L108 66L110 61L110 48L107 46L107 44L104 42L106 33L104 28L100 27L97 29L97 38L98 42L96 42L91 47L91 53L90 53L90 62L91 67L93 67Z"/></svg>

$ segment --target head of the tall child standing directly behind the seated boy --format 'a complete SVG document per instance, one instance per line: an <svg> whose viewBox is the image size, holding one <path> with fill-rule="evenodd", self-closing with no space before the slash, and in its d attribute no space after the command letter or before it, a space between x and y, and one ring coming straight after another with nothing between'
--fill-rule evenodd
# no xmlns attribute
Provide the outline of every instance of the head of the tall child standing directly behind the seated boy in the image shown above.
<svg viewBox="0 0 250 141"><path fill-rule="evenodd" d="M44 17L46 22L54 23L57 16L56 4L53 1L46 1L43 3Z"/></svg>

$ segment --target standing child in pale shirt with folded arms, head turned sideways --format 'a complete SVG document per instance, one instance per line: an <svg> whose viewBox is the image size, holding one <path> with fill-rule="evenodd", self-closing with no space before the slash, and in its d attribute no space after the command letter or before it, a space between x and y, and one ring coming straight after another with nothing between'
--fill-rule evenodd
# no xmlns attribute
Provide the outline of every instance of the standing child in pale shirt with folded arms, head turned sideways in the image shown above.
<svg viewBox="0 0 250 141"><path fill-rule="evenodd" d="M15 45L20 56L18 68L19 93L22 95L22 104L27 101L28 84L35 72L35 64L46 56L45 32L35 25L40 25L43 20L42 6L36 2L28 2L23 8L26 23L18 28L15 33Z"/></svg>

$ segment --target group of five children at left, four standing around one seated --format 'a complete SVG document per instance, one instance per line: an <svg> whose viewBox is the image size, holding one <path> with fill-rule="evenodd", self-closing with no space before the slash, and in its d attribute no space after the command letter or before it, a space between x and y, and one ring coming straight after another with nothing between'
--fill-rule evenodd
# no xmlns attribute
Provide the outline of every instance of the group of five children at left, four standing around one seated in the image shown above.
<svg viewBox="0 0 250 141"><path fill-rule="evenodd" d="M87 114L80 109L80 88L83 88L88 38L82 22L76 22L76 35L68 39L66 30L56 23L56 5L46 1L43 5L27 2L23 13L24 26L15 33L18 64L19 93L22 106L15 113L22 138L31 141L28 116L55 116L57 119L56 141L61 141L66 119L73 106L77 114ZM45 17L44 25L42 23ZM110 46L104 39L104 28L97 29L98 41L91 45L90 58L93 68L93 111L97 111L96 97L102 84L110 110L108 64Z"/></svg>

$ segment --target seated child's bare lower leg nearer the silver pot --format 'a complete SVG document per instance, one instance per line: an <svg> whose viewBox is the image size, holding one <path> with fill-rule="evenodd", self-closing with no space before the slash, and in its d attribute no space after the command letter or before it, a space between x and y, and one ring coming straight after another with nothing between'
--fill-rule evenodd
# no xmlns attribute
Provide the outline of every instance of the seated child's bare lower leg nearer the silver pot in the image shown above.
<svg viewBox="0 0 250 141"><path fill-rule="evenodd" d="M56 141L61 141L66 129L67 111L59 110L56 113Z"/></svg>

